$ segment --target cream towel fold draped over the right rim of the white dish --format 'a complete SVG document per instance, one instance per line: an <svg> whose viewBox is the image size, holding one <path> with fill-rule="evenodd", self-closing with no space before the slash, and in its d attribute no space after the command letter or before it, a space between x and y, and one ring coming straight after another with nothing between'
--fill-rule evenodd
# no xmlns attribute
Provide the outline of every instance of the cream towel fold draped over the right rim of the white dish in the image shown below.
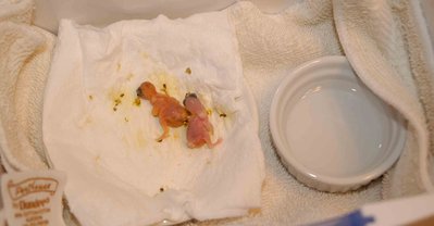
<svg viewBox="0 0 434 226"><path fill-rule="evenodd" d="M409 122L406 149L383 180L387 198L434 191L429 133L434 126L434 70L427 58L431 48L423 49L417 30L417 23L423 23L417 21L418 9L416 1L334 1L337 34L349 62Z"/></svg>

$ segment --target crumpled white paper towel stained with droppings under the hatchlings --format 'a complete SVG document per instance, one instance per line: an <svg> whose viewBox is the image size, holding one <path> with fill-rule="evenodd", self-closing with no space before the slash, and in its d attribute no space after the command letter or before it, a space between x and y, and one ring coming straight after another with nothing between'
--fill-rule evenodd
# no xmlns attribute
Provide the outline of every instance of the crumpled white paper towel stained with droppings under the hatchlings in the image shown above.
<svg viewBox="0 0 434 226"><path fill-rule="evenodd" d="M210 111L213 149L189 149L185 127L162 129L136 89L152 81ZM106 28L62 21L44 108L53 167L83 225L144 225L247 214L260 208L264 165L227 12L159 16ZM253 105L248 104L253 103ZM222 117L220 114L226 116Z"/></svg>

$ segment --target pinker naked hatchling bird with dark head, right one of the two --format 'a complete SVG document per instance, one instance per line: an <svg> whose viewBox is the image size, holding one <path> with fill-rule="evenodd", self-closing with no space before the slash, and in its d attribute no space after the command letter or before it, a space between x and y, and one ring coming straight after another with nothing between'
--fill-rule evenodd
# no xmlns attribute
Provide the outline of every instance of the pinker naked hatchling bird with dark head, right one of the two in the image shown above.
<svg viewBox="0 0 434 226"><path fill-rule="evenodd" d="M210 149L218 146L222 139L219 138L215 142L211 141L211 135L214 130L208 120L207 111L195 93L187 93L184 99L184 105L191 114L187 125L188 148L200 148L204 143Z"/></svg>

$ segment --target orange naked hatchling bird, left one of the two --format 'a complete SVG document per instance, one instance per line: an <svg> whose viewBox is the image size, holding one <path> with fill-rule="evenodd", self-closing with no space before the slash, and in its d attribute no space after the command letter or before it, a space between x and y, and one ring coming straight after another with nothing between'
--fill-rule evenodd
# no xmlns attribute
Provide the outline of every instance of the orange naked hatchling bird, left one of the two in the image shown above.
<svg viewBox="0 0 434 226"><path fill-rule="evenodd" d="M149 81L140 85L137 96L152 104L152 115L159 118L163 128L163 134L157 138L159 141L169 137L169 127L179 127L188 120L188 112L179 101L165 93L157 92L156 87Z"/></svg>

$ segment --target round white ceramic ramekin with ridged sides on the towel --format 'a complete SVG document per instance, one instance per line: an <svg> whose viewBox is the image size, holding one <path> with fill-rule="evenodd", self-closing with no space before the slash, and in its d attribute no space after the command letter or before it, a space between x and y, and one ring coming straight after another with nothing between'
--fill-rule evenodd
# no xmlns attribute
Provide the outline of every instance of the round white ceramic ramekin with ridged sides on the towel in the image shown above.
<svg viewBox="0 0 434 226"><path fill-rule="evenodd" d="M270 112L283 163L323 191L354 190L387 171L401 153L401 116L357 77L345 56L308 62L283 79Z"/></svg>

